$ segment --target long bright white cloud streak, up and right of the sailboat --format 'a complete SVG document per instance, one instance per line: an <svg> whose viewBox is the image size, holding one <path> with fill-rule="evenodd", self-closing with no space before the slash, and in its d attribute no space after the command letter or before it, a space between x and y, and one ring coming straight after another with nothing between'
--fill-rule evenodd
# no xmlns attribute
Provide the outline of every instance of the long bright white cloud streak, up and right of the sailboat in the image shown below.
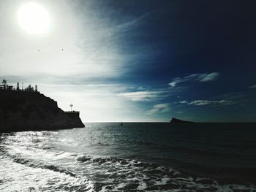
<svg viewBox="0 0 256 192"><path fill-rule="evenodd" d="M162 98L164 91L135 91L129 93L118 93L118 96L131 101L152 101Z"/></svg>

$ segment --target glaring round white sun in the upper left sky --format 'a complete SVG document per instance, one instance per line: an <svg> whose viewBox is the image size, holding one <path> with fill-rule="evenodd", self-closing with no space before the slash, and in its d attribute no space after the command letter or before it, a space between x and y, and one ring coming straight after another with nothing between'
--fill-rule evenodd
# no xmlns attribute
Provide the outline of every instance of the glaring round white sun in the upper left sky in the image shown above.
<svg viewBox="0 0 256 192"><path fill-rule="evenodd" d="M28 34L44 34L50 26L50 17L42 5L28 2L18 9L18 23Z"/></svg>

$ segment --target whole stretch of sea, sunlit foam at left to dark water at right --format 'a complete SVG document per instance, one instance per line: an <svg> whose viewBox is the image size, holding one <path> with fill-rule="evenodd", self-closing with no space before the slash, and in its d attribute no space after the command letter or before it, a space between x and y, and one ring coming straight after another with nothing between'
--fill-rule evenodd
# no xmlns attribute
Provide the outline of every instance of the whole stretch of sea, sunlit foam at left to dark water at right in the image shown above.
<svg viewBox="0 0 256 192"><path fill-rule="evenodd" d="M0 191L256 191L256 124L86 123L1 134Z"/></svg>

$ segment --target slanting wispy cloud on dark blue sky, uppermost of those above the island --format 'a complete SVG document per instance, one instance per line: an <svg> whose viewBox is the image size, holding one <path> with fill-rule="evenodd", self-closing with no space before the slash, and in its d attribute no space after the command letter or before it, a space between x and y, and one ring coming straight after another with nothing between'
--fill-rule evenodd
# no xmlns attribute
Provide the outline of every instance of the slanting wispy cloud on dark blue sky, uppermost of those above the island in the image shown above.
<svg viewBox="0 0 256 192"><path fill-rule="evenodd" d="M177 77L172 80L172 82L169 83L171 87L176 87L176 85L180 82L208 82L208 81L214 81L219 77L218 72L212 72L209 74L206 73L195 73L195 74L189 74L185 77Z"/></svg>

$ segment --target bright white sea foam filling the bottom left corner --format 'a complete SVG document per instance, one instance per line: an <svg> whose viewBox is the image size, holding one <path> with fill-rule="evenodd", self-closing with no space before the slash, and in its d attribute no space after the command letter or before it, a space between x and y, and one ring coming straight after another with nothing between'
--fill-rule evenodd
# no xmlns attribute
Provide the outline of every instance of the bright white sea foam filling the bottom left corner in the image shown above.
<svg viewBox="0 0 256 192"><path fill-rule="evenodd" d="M93 191L93 183L44 167L27 166L1 158L0 191Z"/></svg>

